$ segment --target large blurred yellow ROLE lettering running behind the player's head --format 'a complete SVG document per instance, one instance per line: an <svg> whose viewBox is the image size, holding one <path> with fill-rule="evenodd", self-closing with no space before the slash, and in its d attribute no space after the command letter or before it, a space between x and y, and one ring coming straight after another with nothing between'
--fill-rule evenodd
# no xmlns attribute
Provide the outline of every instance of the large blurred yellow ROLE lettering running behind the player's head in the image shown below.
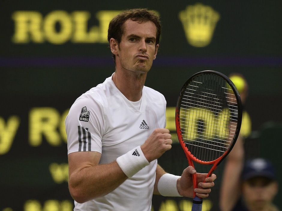
<svg viewBox="0 0 282 211"><path fill-rule="evenodd" d="M158 12L154 12L158 15ZM120 10L98 11L96 18L99 25L89 28L89 11L74 11L69 14L64 10L55 10L45 18L38 11L16 11L12 15L15 23L12 41L42 43L46 40L57 45L69 40L74 43L108 43L109 23L119 13Z"/></svg>

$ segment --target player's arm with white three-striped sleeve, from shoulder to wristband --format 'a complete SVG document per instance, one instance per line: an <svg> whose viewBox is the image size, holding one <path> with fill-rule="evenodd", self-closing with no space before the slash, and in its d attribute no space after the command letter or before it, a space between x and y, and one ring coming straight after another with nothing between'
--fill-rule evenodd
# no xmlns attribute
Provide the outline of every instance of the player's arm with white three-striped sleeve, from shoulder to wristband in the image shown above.
<svg viewBox="0 0 282 211"><path fill-rule="evenodd" d="M88 112L86 122L80 119L84 110ZM83 203L104 196L128 178L116 161L99 165L105 123L104 110L98 101L89 100L88 95L80 97L70 108L65 125L69 191L75 201Z"/></svg>

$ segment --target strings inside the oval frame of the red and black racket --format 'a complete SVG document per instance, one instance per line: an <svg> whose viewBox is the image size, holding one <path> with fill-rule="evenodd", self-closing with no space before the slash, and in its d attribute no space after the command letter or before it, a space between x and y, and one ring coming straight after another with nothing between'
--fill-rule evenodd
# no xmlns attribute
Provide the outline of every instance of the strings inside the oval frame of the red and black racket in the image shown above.
<svg viewBox="0 0 282 211"><path fill-rule="evenodd" d="M179 122L188 150L202 161L223 155L236 131L238 105L226 81L200 75L187 85L180 103Z"/></svg>

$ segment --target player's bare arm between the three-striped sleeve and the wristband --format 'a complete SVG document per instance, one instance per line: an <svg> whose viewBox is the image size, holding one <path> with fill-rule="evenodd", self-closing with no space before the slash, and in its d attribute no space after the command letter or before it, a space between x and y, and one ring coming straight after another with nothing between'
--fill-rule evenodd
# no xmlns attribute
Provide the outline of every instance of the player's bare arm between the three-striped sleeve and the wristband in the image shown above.
<svg viewBox="0 0 282 211"><path fill-rule="evenodd" d="M69 190L76 202L104 196L128 178L116 161L98 165L100 158L101 154L95 151L68 155Z"/></svg>

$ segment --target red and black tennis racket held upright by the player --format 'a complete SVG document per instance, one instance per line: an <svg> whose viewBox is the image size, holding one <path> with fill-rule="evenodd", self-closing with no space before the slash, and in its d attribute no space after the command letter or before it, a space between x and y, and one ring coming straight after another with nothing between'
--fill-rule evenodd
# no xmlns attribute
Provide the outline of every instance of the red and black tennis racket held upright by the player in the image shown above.
<svg viewBox="0 0 282 211"><path fill-rule="evenodd" d="M176 131L188 160L213 165L210 177L228 155L239 135L242 106L232 81L220 72L205 70L192 75L182 86L176 106ZM192 175L197 188L196 174ZM192 211L202 210L194 193Z"/></svg>

